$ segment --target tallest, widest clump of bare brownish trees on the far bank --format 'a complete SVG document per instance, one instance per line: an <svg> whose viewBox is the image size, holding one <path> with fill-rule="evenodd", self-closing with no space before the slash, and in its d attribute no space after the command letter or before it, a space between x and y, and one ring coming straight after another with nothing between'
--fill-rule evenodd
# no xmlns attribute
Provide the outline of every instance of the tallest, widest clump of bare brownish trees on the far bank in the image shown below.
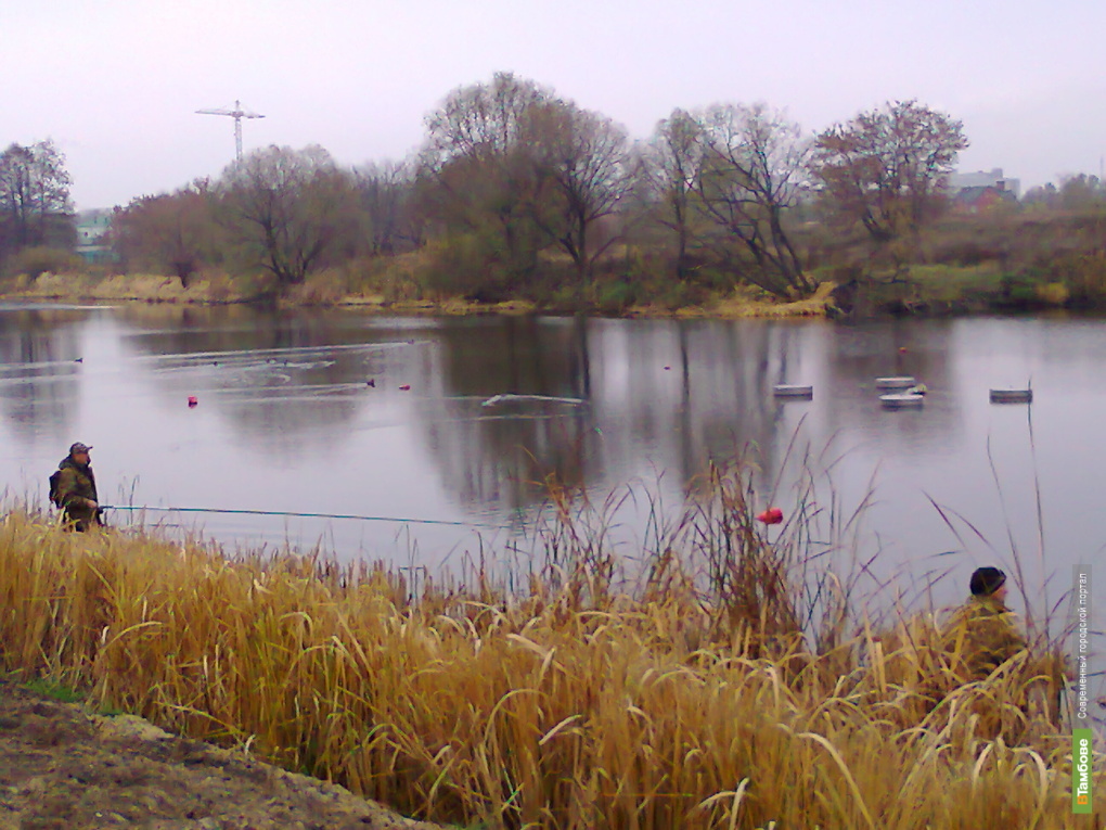
<svg viewBox="0 0 1106 830"><path fill-rule="evenodd" d="M473 295L524 290L554 246L588 280L628 184L625 129L503 72L455 90L427 123L424 204L491 266Z"/></svg>

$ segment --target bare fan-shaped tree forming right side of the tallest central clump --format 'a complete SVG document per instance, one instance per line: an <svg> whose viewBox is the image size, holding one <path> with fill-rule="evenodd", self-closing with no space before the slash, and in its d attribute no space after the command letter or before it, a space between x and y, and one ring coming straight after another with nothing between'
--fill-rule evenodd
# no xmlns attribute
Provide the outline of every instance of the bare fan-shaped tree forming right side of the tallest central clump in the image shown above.
<svg viewBox="0 0 1106 830"><path fill-rule="evenodd" d="M596 226L614 216L633 184L629 143L624 127L575 104L552 102L533 113L539 170L553 183L547 205L535 218L572 258L580 284L595 260L617 239L599 239Z"/></svg>

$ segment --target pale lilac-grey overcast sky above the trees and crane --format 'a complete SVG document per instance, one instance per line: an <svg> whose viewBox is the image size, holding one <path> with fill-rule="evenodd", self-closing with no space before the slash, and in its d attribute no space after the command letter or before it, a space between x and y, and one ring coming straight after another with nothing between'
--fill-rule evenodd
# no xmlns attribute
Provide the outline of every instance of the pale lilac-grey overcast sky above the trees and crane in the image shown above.
<svg viewBox="0 0 1106 830"><path fill-rule="evenodd" d="M765 101L808 129L917 97L964 123L961 170L1098 174L1102 0L0 0L0 144L53 138L79 208L244 148L400 158L452 89L512 71L647 136L676 106Z"/></svg>

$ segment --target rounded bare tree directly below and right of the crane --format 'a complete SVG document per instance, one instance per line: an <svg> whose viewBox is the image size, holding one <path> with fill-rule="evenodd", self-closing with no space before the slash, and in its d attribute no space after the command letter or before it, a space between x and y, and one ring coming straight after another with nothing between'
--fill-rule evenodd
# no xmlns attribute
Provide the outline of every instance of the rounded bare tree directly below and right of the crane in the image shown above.
<svg viewBox="0 0 1106 830"><path fill-rule="evenodd" d="M281 287L300 284L354 231L352 176L319 146L271 146L227 168L225 201Z"/></svg>

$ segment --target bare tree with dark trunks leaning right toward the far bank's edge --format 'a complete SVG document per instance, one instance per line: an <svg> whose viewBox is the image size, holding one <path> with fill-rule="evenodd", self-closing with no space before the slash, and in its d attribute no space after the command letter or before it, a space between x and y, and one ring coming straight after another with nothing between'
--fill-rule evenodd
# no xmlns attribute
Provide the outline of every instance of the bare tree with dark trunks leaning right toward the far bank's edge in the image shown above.
<svg viewBox="0 0 1106 830"><path fill-rule="evenodd" d="M703 209L751 259L745 278L787 298L815 284L784 227L805 184L810 141L764 104L716 104L702 118L706 156L698 179Z"/></svg>

